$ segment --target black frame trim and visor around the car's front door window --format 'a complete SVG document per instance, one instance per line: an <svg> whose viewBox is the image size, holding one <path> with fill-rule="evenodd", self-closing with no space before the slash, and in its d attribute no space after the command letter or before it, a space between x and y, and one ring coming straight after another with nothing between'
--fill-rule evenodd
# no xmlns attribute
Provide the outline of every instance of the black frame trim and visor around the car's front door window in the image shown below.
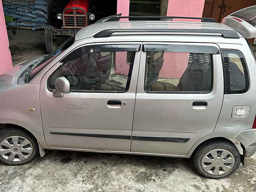
<svg viewBox="0 0 256 192"><path fill-rule="evenodd" d="M141 42L99 42L99 43L92 43L92 44L83 44L83 45L80 45L76 48L74 48L73 50L71 50L68 54L66 54L65 56L62 57L62 59L60 59L60 61L58 63L61 63L60 66L58 66L58 68L56 68L56 70L54 70L54 72L56 72L57 70L59 70L59 73L58 73L58 77L60 77L61 75L61 68L62 66L65 64L64 62L61 62L62 60L64 60L69 54L72 54L72 52L78 50L79 48L82 48L82 47L85 47L85 46L105 46L105 45L116 45L116 46L119 46L119 45L134 45L134 46L138 46L138 49L136 51L131 51L131 52L134 52L134 57L133 57L133 62L132 62L132 68L130 67L129 68L129 72L128 72L128 76L130 75L130 78L128 78L128 87L127 87L127 82L126 82L126 90L70 90L70 93L74 92L74 93L126 93L129 91L130 89L130 81L132 79L132 73L133 73L133 68L134 68L134 62L135 62L135 58L136 58L136 54L141 52L142 50L142 44ZM110 48L111 49L111 48ZM130 50L129 50L130 51ZM114 52L118 52L118 51L114 51ZM126 51L128 52L128 51ZM50 77L52 76L52 74L54 74L54 72L52 72L48 78L47 78L47 81L46 81L46 84L47 84L47 90L50 91L50 92L53 92L53 89L51 89L49 87L49 80L50 80Z"/></svg>

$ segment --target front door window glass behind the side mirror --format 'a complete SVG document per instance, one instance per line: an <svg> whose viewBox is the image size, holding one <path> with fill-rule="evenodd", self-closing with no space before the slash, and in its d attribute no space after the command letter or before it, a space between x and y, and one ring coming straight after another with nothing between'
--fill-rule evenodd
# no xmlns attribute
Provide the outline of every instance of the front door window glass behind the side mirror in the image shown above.
<svg viewBox="0 0 256 192"><path fill-rule="evenodd" d="M125 92L129 88L134 51L86 52L62 64L59 76L70 82L72 92ZM49 79L54 89L56 74Z"/></svg>

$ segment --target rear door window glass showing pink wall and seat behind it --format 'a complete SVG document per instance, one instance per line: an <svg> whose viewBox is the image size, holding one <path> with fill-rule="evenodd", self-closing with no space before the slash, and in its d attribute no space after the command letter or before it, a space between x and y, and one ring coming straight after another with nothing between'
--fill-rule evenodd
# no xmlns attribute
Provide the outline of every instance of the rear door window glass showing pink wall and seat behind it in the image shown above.
<svg viewBox="0 0 256 192"><path fill-rule="evenodd" d="M206 93L212 87L212 56L147 52L145 77L146 92Z"/></svg>

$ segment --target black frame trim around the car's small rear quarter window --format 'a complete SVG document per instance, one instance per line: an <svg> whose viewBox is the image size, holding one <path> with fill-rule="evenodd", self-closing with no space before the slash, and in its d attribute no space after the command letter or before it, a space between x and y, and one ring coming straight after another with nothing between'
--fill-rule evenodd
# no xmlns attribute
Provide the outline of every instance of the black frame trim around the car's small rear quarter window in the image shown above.
<svg viewBox="0 0 256 192"><path fill-rule="evenodd" d="M226 67L225 67L225 61L224 61L224 50L234 50L234 51L238 51L240 52L240 54L242 54L243 58L244 58L244 63L246 66L246 71L247 74L244 75L244 79L245 79L245 88L243 90L230 90L230 88L227 91L227 87L228 84L230 84L230 75L226 74ZM222 48L220 49L220 53L221 53L221 59L222 59L222 69L223 69L223 84L224 84L224 95L230 95L230 94L244 94L246 92L248 92L250 90L250 74L249 74L249 70L248 70L248 65L246 62L246 59L244 57L244 54L242 53L242 51L238 50L238 49L228 49L228 48ZM241 62L242 63L242 62ZM245 73L244 73L245 74ZM227 81L229 82L227 84ZM247 90L246 90L247 88Z"/></svg>

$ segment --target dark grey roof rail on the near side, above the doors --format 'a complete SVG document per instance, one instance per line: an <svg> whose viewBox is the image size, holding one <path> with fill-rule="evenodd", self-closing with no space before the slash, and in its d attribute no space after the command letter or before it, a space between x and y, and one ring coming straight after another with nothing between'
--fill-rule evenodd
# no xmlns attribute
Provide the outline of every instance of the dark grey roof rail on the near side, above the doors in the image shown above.
<svg viewBox="0 0 256 192"><path fill-rule="evenodd" d="M224 38L239 39L239 35L234 30L208 30L208 29L105 29L96 33L94 38L109 37L113 33L132 32L178 32L178 33L220 33Z"/></svg>

